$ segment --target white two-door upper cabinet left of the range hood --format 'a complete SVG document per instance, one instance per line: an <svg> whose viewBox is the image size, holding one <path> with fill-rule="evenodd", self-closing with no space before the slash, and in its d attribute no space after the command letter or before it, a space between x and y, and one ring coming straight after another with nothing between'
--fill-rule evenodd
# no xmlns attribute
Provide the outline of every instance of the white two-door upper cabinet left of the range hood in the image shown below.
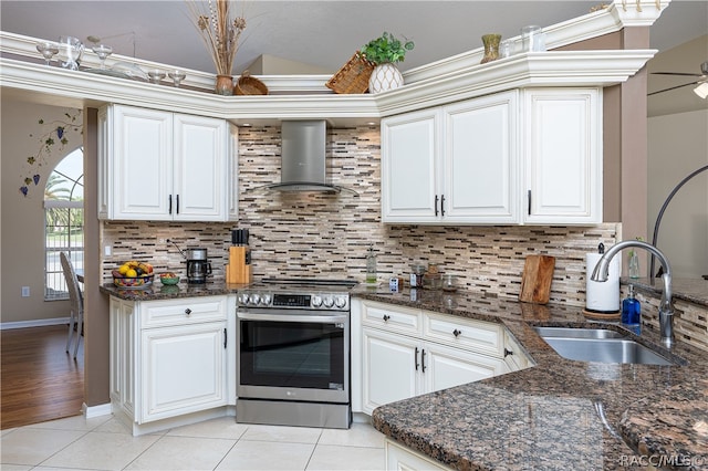
<svg viewBox="0 0 708 471"><path fill-rule="evenodd" d="M98 216L227 221L236 161L226 121L113 105L98 117Z"/></svg>

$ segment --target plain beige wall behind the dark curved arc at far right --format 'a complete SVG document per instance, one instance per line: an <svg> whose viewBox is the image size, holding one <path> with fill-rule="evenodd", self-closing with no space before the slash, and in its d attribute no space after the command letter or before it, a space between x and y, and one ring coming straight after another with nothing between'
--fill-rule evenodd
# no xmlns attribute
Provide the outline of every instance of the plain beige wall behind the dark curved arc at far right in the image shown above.
<svg viewBox="0 0 708 471"><path fill-rule="evenodd" d="M686 91L685 93L691 93ZM674 187L708 165L707 108L648 119L648 228ZM676 193L662 219L657 247L668 257L675 278L708 274L708 171ZM658 263L657 263L658 269Z"/></svg>

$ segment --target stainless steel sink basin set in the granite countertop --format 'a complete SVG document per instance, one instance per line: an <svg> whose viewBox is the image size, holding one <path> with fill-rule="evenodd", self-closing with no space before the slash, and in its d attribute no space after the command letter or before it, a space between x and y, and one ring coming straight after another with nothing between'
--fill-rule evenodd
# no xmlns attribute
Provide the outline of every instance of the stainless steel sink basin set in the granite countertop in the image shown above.
<svg viewBox="0 0 708 471"><path fill-rule="evenodd" d="M606 328L535 327L559 355L579 362L676 365L650 348Z"/></svg>

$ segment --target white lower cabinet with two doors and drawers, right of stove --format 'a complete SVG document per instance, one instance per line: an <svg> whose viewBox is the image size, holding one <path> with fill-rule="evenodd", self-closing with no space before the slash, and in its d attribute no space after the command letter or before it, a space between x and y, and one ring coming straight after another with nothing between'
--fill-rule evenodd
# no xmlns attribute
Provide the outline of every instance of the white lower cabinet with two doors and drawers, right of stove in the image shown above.
<svg viewBox="0 0 708 471"><path fill-rule="evenodd" d="M376 407L388 402L510 370L501 348L501 325L369 301L355 302L352 310L352 322L362 322L361 355L353 352L354 363L357 357L362 358L361 367L352 367L353 384L356 385L356 375L361 375L362 385L361 405L353 401L355 411L361 408L371 415ZM387 325L389 322L393 324ZM402 328L402 324L409 327ZM448 327L449 339L442 332L426 333L429 328L424 326L430 325ZM493 339L490 333L494 333ZM355 342L353 345L356 348Z"/></svg>

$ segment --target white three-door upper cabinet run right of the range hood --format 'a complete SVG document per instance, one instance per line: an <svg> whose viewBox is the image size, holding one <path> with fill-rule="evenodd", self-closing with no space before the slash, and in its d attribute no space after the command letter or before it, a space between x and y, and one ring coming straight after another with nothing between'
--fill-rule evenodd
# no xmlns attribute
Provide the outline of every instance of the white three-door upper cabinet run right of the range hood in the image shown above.
<svg viewBox="0 0 708 471"><path fill-rule="evenodd" d="M382 121L382 220L602 222L598 88L498 93Z"/></svg>

